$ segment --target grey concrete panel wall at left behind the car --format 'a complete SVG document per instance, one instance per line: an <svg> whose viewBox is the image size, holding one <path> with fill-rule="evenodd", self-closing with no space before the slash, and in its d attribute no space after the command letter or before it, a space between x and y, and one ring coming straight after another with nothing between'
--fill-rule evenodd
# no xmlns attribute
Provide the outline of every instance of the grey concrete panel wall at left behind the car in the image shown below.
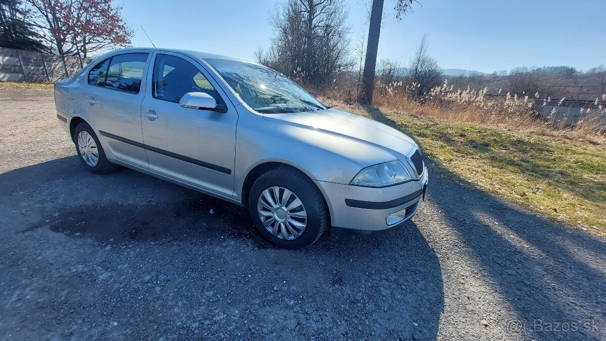
<svg viewBox="0 0 606 341"><path fill-rule="evenodd" d="M0 81L52 82L70 78L90 59L44 55L40 52L0 47Z"/></svg>

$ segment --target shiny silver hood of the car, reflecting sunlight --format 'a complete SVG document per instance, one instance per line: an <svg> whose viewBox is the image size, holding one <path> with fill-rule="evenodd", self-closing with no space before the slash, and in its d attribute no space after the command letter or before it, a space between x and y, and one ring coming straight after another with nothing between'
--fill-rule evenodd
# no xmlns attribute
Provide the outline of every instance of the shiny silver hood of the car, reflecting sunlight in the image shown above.
<svg viewBox="0 0 606 341"><path fill-rule="evenodd" d="M355 113L335 108L315 112L271 113L265 120L316 130L336 137L347 138L375 147L405 160L405 156L417 147L404 133Z"/></svg>

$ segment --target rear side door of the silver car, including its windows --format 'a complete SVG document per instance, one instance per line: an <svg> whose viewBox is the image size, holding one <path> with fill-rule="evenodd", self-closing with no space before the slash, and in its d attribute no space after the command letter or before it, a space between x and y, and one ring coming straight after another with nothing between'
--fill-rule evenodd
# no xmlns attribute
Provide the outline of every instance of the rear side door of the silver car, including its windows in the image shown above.
<svg viewBox="0 0 606 341"><path fill-rule="evenodd" d="M81 101L87 120L115 158L148 167L142 148L141 101L151 53L124 53L99 62L88 73Z"/></svg>

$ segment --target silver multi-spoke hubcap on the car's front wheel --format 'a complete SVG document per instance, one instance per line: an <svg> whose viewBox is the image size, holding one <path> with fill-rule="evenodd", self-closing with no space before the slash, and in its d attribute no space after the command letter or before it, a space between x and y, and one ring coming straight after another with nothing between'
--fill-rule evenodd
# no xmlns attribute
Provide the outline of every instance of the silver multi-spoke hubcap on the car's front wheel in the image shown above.
<svg viewBox="0 0 606 341"><path fill-rule="evenodd" d="M257 211L263 226L280 239L298 238L307 227L307 211L290 190L273 186L259 195Z"/></svg>

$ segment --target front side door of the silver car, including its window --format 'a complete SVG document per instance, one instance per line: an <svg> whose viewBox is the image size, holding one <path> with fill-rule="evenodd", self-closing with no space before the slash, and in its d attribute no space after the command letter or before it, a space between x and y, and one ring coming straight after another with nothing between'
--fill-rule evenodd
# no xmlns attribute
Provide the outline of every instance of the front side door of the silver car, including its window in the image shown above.
<svg viewBox="0 0 606 341"><path fill-rule="evenodd" d="M231 197L236 109L204 67L187 56L156 53L150 73L150 86L141 104L150 170ZM188 92L208 93L224 110L179 106Z"/></svg>

